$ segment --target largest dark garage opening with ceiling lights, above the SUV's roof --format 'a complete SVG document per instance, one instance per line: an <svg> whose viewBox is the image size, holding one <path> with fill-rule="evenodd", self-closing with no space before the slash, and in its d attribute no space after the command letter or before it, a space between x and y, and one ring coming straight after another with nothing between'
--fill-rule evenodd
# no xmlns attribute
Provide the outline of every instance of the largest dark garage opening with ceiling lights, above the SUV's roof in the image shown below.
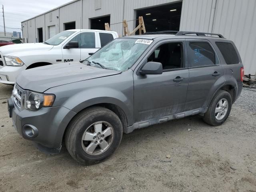
<svg viewBox="0 0 256 192"><path fill-rule="evenodd" d="M182 2L136 11L136 18L143 16L146 32L180 29ZM138 26L138 20L136 20ZM137 32L138 33L138 32Z"/></svg>

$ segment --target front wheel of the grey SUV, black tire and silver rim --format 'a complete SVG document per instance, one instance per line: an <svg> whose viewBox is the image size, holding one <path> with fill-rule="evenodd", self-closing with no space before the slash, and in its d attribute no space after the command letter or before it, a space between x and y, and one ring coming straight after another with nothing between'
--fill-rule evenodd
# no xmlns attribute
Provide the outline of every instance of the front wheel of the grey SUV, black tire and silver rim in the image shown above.
<svg viewBox="0 0 256 192"><path fill-rule="evenodd" d="M66 148L79 163L102 162L118 148L122 139L122 122L103 107L93 107L78 114L68 126Z"/></svg>

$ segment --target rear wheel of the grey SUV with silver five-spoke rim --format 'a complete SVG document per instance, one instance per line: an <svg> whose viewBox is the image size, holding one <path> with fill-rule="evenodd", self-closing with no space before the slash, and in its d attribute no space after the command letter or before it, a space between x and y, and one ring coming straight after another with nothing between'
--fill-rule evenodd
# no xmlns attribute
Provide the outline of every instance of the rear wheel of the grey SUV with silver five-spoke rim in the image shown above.
<svg viewBox="0 0 256 192"><path fill-rule="evenodd" d="M219 90L212 98L208 110L204 114L204 122L212 126L221 125L228 118L232 107L232 99L228 92Z"/></svg>

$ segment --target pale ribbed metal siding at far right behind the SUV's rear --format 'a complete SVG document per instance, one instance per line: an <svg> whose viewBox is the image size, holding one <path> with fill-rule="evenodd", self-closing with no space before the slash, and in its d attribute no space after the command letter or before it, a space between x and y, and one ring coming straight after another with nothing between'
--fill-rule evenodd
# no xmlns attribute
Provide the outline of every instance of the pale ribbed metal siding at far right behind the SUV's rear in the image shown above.
<svg viewBox="0 0 256 192"><path fill-rule="evenodd" d="M255 12L255 0L217 0L213 32L236 44L245 74L256 74Z"/></svg>

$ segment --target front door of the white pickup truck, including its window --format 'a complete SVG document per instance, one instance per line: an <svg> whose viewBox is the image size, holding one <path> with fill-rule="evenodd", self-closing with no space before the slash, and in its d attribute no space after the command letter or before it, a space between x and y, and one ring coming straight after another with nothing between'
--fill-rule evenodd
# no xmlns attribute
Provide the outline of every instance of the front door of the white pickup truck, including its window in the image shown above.
<svg viewBox="0 0 256 192"><path fill-rule="evenodd" d="M70 41L77 41L78 48L64 48ZM63 62L79 61L88 58L89 53L96 52L100 46L96 32L81 32L62 46Z"/></svg>

